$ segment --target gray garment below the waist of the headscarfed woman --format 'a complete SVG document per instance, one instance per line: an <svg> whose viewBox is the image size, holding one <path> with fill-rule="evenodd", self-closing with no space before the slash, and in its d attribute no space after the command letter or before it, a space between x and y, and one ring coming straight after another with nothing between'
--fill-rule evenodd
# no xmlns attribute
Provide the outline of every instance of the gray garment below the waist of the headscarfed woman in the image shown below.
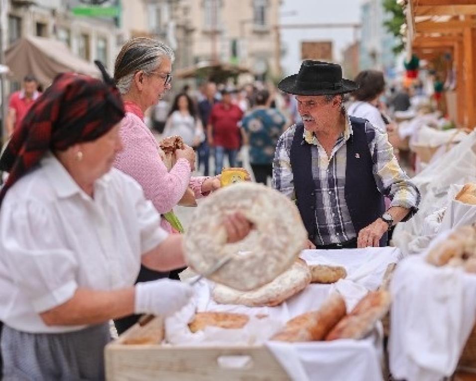
<svg viewBox="0 0 476 381"><path fill-rule="evenodd" d="M109 323L68 333L1 333L4 381L104 380Z"/></svg>

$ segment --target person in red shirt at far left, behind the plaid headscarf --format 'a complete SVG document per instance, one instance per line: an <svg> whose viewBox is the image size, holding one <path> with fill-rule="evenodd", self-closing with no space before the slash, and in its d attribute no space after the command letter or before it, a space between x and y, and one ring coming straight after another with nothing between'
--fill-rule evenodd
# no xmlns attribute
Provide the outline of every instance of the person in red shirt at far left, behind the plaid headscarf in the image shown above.
<svg viewBox="0 0 476 381"><path fill-rule="evenodd" d="M20 125L31 105L33 105L36 99L41 95L36 90L37 87L38 81L34 76L29 74L23 79L23 89L11 94L8 102L8 114L6 116L6 131L8 136Z"/></svg>

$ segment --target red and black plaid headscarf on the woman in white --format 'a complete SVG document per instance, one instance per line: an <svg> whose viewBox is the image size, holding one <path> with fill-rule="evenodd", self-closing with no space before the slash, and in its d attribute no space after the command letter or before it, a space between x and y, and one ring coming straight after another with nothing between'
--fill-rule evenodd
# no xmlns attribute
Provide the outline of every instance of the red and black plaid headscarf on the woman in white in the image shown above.
<svg viewBox="0 0 476 381"><path fill-rule="evenodd" d="M124 117L118 89L103 65L95 62L104 82L73 73L58 75L14 130L0 157L0 169L9 172L0 191L0 204L7 190L45 152L96 140Z"/></svg>

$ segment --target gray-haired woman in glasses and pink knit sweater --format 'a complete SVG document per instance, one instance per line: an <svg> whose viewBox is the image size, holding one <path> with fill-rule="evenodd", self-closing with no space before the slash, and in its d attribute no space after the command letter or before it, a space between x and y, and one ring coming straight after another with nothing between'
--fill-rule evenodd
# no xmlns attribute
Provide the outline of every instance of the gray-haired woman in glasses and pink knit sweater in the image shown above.
<svg viewBox="0 0 476 381"><path fill-rule="evenodd" d="M114 79L122 95L125 117L120 136L123 150L116 158L115 166L133 177L144 189L145 197L155 209L169 216L190 187L199 198L220 187L216 177L191 177L195 166L195 152L189 146L176 151L177 162L167 171L162 162L158 143L144 123L146 110L157 104L160 97L170 89L173 51L164 43L146 37L133 38L126 42L116 59ZM161 226L172 233L176 226L162 218ZM137 281L164 277L142 267ZM116 321L121 333L134 324L138 316L129 316Z"/></svg>

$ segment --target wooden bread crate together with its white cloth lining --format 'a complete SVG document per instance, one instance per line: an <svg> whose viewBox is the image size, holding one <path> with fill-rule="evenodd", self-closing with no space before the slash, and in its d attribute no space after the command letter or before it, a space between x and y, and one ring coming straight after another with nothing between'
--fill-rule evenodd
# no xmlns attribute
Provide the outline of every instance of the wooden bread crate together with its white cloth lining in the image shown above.
<svg viewBox="0 0 476 381"><path fill-rule="evenodd" d="M163 327L160 319L154 319L149 324L150 327L155 324L155 333L147 325L133 327L107 347L107 377L109 380L324 381L345 380L352 375L353 380L382 380L380 323L360 340L289 343L269 338L286 321L319 310L336 291L344 296L348 312L352 311L370 290L380 287L388 265L398 262L400 256L395 248L304 251L301 258L309 266L342 266L347 277L332 284L310 283L273 307L217 303L213 297L216 284L202 280L194 287L195 298L189 310L186 308L167 319ZM207 327L191 333L184 315L192 317L195 310L241 314L252 319L243 329Z"/></svg>

